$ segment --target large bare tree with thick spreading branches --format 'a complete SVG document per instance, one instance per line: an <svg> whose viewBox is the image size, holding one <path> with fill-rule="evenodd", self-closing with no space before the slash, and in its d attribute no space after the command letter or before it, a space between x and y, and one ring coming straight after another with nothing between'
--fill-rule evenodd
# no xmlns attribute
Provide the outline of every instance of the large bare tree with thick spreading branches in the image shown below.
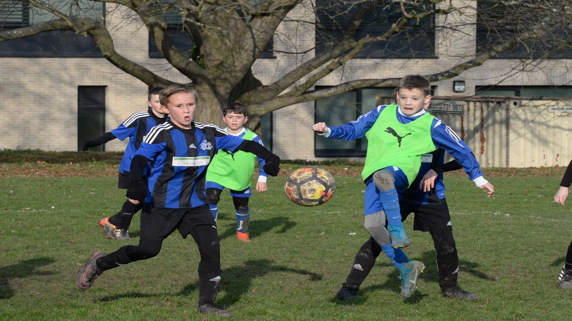
<svg viewBox="0 0 572 321"><path fill-rule="evenodd" d="M428 74L432 82L456 77L499 54L518 53L519 68L526 70L571 52L567 0L0 0L5 21L15 6L53 15L49 21L0 31L0 42L70 30L92 37L105 59L147 85L172 85L160 71L116 51L112 31L121 26L85 14L90 3L100 2L106 3L108 15L121 13L125 21L146 27L169 66L189 79L185 85L198 91L202 106L210 106L202 109L200 119L218 119L222 106L237 101L249 106L253 127L261 116L281 107L361 87L395 86L398 78L352 79L314 89L317 82L343 71L351 59L379 64L384 59L435 56L435 46L452 41L428 41L436 32L463 37L463 28L470 26L478 29L478 37L472 50L443 51L455 63ZM173 18L194 42L188 53L181 53L169 38ZM279 31L281 23L299 33L315 33L315 47L298 47L292 30ZM252 68L273 39L291 43L275 53L293 63L263 85ZM306 58L309 52L315 55Z"/></svg>

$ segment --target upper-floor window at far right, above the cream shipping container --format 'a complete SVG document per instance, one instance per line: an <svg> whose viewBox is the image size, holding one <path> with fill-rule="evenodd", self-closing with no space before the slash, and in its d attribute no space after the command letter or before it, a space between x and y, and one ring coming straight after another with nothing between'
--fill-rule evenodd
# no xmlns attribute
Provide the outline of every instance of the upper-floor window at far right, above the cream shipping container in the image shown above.
<svg viewBox="0 0 572 321"><path fill-rule="evenodd" d="M519 13L517 5L477 1L476 49L478 52L498 42L532 29L532 14ZM527 14L526 16L523 14ZM541 15L537 15L537 18ZM563 43L570 41L569 30L555 29L542 39L526 41L511 50L502 51L492 59L562 59L572 58L572 49Z"/></svg>

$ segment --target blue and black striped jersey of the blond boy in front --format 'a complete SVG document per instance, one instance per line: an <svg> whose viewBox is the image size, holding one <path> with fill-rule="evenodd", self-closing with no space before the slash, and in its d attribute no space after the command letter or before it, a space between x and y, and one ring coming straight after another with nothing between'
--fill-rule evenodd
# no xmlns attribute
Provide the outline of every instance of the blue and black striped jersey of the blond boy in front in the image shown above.
<svg viewBox="0 0 572 321"><path fill-rule="evenodd" d="M168 121L153 127L136 153L153 161L145 202L166 208L206 204L210 160L217 150L234 152L243 141L215 125L191 122L190 129L182 129Z"/></svg>

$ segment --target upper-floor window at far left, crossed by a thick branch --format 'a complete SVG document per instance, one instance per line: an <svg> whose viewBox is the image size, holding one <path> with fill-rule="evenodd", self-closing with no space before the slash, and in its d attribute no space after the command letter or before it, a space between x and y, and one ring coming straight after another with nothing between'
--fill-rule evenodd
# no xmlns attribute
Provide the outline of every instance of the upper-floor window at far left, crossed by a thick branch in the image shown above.
<svg viewBox="0 0 572 321"><path fill-rule="evenodd" d="M101 19L105 14L104 3L88 0L57 2L58 10L78 17ZM0 31L27 27L55 19L45 10L28 8L25 1L0 2ZM92 37L84 37L74 31L46 31L30 37L0 42L0 57L58 57L103 58Z"/></svg>

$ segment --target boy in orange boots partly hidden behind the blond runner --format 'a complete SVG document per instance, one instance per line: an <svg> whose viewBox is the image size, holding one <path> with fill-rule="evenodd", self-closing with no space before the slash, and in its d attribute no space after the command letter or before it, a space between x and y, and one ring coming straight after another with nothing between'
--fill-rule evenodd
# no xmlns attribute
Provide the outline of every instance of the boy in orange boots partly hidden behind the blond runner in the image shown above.
<svg viewBox="0 0 572 321"><path fill-rule="evenodd" d="M161 87L155 87L149 90L147 95L147 106L149 106L148 111L141 111L140 113L131 115L116 129L84 144L84 151L87 151L89 147L99 146L116 138L123 141L125 138L129 137L129 143L125 148L125 154L123 155L121 164L119 165L118 188L128 187L129 166L133 156L145 138L145 135L154 126L161 125L167 119L165 117L165 113L161 110L161 104L159 103L159 92L161 90ZM145 168L145 176L148 174L149 168L149 166ZM115 240L130 240L131 238L129 237L128 231L129 225L131 224L133 215L141 210L142 207L143 204L137 200L127 199L123 203L121 211L111 217L101 219L100 224L104 228L107 237Z"/></svg>

